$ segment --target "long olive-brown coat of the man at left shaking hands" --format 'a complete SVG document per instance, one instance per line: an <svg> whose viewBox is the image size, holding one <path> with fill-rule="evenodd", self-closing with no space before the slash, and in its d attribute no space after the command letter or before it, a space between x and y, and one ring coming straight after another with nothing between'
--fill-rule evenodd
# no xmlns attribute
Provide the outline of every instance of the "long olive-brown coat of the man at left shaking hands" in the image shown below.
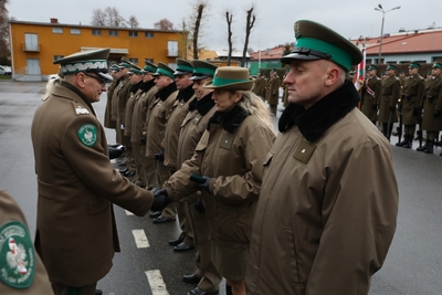
<svg viewBox="0 0 442 295"><path fill-rule="evenodd" d="M35 247L51 282L93 284L119 252L113 203L144 215L152 194L113 169L104 128L87 98L61 82L35 112Z"/></svg>

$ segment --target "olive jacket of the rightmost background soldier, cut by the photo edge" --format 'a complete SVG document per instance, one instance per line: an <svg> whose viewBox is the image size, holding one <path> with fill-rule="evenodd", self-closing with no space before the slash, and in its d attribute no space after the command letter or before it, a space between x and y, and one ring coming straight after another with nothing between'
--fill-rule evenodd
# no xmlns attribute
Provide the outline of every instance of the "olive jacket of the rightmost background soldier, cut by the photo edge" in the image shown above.
<svg viewBox="0 0 442 295"><path fill-rule="evenodd" d="M439 131L442 117L434 116L434 110L442 112L442 76L425 80L423 91L423 117L422 129L425 131Z"/></svg>

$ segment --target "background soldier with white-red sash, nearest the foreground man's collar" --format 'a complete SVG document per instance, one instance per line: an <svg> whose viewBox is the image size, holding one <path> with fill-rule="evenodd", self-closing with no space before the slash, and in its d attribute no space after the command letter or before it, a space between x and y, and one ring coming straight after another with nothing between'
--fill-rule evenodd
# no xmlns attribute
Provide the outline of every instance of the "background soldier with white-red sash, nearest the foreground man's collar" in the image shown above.
<svg viewBox="0 0 442 295"><path fill-rule="evenodd" d="M380 78L376 75L378 67L370 65L367 70L367 80L362 87L362 113L369 118L372 124L376 124L378 118L378 107L380 97Z"/></svg>

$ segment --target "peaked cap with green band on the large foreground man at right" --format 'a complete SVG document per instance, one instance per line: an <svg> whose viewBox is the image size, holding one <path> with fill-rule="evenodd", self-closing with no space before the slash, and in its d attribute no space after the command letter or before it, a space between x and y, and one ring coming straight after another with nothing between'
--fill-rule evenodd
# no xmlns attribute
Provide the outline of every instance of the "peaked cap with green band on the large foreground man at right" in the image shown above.
<svg viewBox="0 0 442 295"><path fill-rule="evenodd" d="M308 20L295 23L296 43L292 52L281 59L282 63L292 60L329 60L347 72L351 65L362 61L362 53L350 41L332 29Z"/></svg>

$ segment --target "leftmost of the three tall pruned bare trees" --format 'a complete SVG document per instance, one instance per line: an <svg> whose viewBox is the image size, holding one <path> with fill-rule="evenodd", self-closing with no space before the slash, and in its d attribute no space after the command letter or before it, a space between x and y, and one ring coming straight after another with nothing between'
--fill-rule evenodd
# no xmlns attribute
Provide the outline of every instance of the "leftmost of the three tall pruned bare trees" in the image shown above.
<svg viewBox="0 0 442 295"><path fill-rule="evenodd" d="M201 24L207 19L207 11L210 9L209 0L193 0L190 2L191 12L189 17L190 32L191 32L191 43L193 51L193 60L198 60L199 51L201 44L199 42L202 35Z"/></svg>

